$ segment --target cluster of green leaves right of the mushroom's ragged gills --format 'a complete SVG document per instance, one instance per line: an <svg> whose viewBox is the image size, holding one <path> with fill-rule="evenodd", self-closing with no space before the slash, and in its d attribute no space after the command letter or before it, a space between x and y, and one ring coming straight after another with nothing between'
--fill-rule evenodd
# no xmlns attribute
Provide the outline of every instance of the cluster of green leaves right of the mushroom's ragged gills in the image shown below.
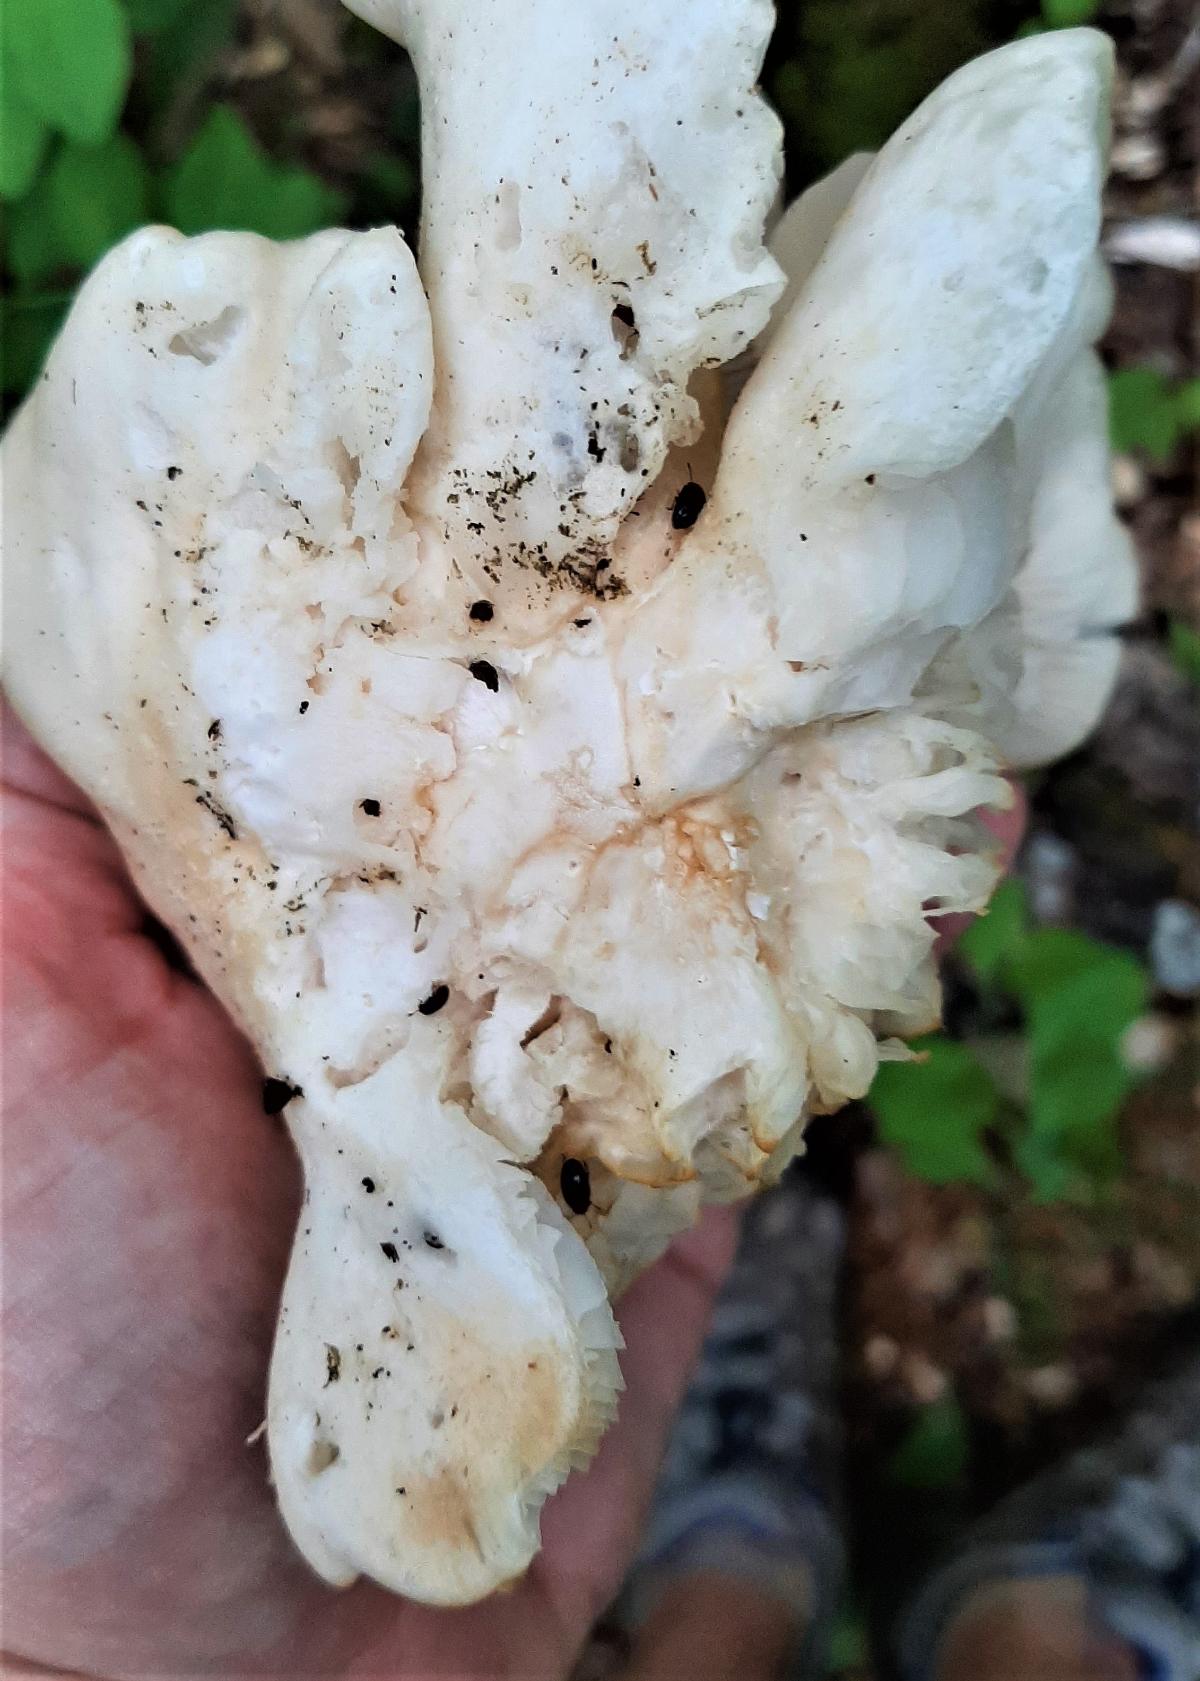
<svg viewBox="0 0 1200 1681"><path fill-rule="evenodd" d="M1000 888L960 951L987 992L1020 1007L1025 1099L1007 1113L970 1046L923 1041L928 1061L884 1064L871 1089L881 1136L921 1178L988 1183L982 1140L1000 1128L1039 1200L1103 1188L1119 1168L1116 1120L1136 1083L1121 1044L1150 999L1145 968L1074 930L1034 928L1017 881Z"/></svg>

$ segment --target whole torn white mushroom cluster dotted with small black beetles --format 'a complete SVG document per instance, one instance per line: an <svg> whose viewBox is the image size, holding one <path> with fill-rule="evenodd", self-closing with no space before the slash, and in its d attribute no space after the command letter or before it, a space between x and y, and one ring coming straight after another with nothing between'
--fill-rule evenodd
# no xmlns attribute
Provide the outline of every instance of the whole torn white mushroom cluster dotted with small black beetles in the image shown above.
<svg viewBox="0 0 1200 1681"><path fill-rule="evenodd" d="M968 66L776 262L766 0L356 10L420 267L101 264L3 445L7 684L296 1091L291 1531L455 1604L610 1420L610 1298L936 1019L973 814L1104 701L1109 52Z"/></svg>

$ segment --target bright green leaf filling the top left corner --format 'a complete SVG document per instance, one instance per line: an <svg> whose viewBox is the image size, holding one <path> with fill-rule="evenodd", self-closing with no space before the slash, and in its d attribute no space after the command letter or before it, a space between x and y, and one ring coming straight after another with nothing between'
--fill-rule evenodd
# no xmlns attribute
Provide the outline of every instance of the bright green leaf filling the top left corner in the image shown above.
<svg viewBox="0 0 1200 1681"><path fill-rule="evenodd" d="M106 140L133 66L118 0L3 0L0 12L5 84L71 140Z"/></svg>

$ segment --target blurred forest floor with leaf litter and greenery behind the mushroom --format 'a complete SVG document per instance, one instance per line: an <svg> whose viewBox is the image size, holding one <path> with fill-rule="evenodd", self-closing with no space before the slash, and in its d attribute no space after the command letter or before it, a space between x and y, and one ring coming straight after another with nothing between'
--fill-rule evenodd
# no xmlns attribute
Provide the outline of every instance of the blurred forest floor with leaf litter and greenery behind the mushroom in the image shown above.
<svg viewBox="0 0 1200 1681"><path fill-rule="evenodd" d="M1082 22L1119 66L1104 355L1145 609L1103 726L1030 780L928 1061L812 1133L805 1173L849 1214L852 1510L872 1515L842 1678L871 1674L869 1626L931 1550L1118 1409L1200 1304L1200 8L782 0L763 74L797 192L965 59ZM5 410L141 222L415 242L415 77L336 0L3 0L0 30Z"/></svg>

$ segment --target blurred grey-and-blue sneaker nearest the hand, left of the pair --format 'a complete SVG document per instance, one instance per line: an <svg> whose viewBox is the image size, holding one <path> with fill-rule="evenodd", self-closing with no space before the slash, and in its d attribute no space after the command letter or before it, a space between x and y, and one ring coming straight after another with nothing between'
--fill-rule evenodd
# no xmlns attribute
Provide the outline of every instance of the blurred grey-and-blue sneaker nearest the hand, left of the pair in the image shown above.
<svg viewBox="0 0 1200 1681"><path fill-rule="evenodd" d="M845 1222L800 1168L748 1210L676 1420L620 1615L716 1570L782 1599L793 1673L815 1673L844 1573L837 1510L837 1296Z"/></svg>

